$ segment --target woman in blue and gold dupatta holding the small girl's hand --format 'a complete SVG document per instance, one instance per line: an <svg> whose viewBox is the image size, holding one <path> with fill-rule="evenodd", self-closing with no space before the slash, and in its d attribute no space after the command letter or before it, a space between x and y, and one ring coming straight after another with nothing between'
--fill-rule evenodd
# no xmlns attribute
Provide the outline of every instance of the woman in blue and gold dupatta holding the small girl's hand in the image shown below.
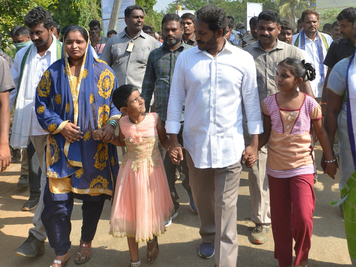
<svg viewBox="0 0 356 267"><path fill-rule="evenodd" d="M119 170L116 147L107 142L114 138L120 117L111 104L118 87L114 71L93 57L83 27L68 28L62 51L62 59L43 73L35 104L38 121L49 132L41 219L56 252L52 267L64 266L71 255L74 198L83 200L82 235L74 261L90 259L104 200L111 198ZM96 129L104 130L104 140L92 138Z"/></svg>

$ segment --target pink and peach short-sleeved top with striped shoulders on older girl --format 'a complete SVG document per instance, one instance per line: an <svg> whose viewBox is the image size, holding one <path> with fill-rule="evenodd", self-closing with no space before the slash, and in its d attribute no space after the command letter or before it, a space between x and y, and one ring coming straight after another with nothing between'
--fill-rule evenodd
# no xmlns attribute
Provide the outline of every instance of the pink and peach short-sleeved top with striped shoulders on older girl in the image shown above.
<svg viewBox="0 0 356 267"><path fill-rule="evenodd" d="M311 120L321 119L320 105L304 94L303 104L298 109L282 109L276 96L268 96L261 103L263 115L271 117L272 124L266 171L280 178L314 173L310 124Z"/></svg>

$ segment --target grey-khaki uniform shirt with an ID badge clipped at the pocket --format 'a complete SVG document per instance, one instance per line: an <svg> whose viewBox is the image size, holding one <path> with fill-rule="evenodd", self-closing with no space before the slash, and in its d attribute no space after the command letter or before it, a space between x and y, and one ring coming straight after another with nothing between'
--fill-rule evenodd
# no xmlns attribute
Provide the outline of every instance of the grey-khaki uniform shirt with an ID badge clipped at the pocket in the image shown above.
<svg viewBox="0 0 356 267"><path fill-rule="evenodd" d="M130 42L135 43L132 52L127 51ZM109 38L101 52L100 59L114 70L119 86L131 84L141 93L148 55L158 47L157 40L142 30L132 40L126 34L125 28L124 31Z"/></svg>

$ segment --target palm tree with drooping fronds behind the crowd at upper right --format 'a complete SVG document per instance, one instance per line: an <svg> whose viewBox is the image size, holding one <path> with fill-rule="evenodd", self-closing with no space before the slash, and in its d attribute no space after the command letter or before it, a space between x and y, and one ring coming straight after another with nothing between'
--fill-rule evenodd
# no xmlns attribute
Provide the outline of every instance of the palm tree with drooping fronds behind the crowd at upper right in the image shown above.
<svg viewBox="0 0 356 267"><path fill-rule="evenodd" d="M304 11L309 9L309 3L299 0L276 0L273 2L275 6L279 9L279 16L281 18L286 18L292 23L295 30L296 17Z"/></svg>

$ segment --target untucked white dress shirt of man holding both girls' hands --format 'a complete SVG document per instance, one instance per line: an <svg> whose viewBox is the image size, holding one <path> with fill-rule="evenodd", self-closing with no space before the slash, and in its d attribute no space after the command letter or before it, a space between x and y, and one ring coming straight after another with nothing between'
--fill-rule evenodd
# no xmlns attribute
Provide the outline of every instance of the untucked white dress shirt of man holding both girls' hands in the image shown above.
<svg viewBox="0 0 356 267"><path fill-rule="evenodd" d="M197 46L179 54L169 94L167 133L180 130L184 98L184 148L196 168L223 168L241 159L242 99L248 132L263 132L255 62L249 53L227 42L215 58Z"/></svg>

